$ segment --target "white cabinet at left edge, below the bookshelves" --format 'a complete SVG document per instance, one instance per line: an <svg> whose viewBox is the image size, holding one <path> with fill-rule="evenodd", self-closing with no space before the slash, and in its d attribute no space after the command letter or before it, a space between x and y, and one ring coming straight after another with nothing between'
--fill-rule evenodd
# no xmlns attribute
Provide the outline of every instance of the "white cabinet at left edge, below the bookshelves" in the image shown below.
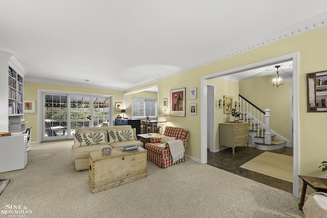
<svg viewBox="0 0 327 218"><path fill-rule="evenodd" d="M0 173L24 169L31 148L31 129L0 137Z"/></svg>

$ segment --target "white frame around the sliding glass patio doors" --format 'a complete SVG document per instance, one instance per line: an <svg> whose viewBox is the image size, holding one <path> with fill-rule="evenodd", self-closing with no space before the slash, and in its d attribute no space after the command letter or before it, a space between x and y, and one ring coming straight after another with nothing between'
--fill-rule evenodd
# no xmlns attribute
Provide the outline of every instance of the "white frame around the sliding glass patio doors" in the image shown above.
<svg viewBox="0 0 327 218"><path fill-rule="evenodd" d="M47 90L47 89L38 89L37 90L37 143L42 142L42 111L43 111L43 105L42 105L42 94L45 93L51 93L51 94L67 94L67 95L91 95L91 100L93 96L101 96L105 98L111 98L111 111L110 111L110 117L113 119L113 95L112 94L99 94L99 93L88 93L88 92L71 92L71 91L58 91L58 90ZM71 137L72 138L72 137ZM69 139L69 136L68 136ZM48 141L50 142L50 141Z"/></svg>

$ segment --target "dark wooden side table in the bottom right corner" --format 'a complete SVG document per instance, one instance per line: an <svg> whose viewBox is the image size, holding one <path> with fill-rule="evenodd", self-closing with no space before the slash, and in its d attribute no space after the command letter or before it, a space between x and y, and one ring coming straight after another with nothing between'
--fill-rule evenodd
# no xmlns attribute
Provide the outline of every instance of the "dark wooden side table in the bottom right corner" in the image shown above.
<svg viewBox="0 0 327 218"><path fill-rule="evenodd" d="M327 179L310 177L310 176L298 176L303 181L301 200L298 204L298 208L302 210L303 204L305 203L307 185L315 189L315 191L327 193Z"/></svg>

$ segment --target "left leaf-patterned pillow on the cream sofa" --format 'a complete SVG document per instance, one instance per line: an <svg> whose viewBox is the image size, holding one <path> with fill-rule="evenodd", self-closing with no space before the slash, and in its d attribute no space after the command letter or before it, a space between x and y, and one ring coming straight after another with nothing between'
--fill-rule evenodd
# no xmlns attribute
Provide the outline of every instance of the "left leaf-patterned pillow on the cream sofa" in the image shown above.
<svg viewBox="0 0 327 218"><path fill-rule="evenodd" d="M92 146L95 144L109 144L106 132L78 133L75 134L74 148Z"/></svg>

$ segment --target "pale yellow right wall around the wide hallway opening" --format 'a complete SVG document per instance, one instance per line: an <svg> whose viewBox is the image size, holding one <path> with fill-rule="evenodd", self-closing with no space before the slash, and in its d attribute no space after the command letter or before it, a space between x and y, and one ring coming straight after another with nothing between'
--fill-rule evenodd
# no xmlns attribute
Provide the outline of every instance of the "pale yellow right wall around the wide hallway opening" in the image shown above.
<svg viewBox="0 0 327 218"><path fill-rule="evenodd" d="M211 75L216 72L252 64L259 61L298 52L299 54L299 147L300 174L326 176L318 168L321 161L326 160L327 146L325 145L325 120L327 113L307 112L307 85L306 74L309 72L322 71L327 69L327 27L322 27L307 33L287 38L275 43L259 47L258 49L239 55L226 58L212 64L204 65L181 74L150 83L142 87L159 84L159 113L162 111L161 100L168 98L171 89L186 87L186 106L190 103L197 103L197 115L189 115L189 108L186 107L186 117L168 116L167 125L179 126L190 130L190 138L186 155L200 159L200 77ZM197 87L198 98L189 100L188 91ZM128 90L131 91L131 90ZM169 115L169 111L167 113ZM218 139L217 139L218 140Z"/></svg>

